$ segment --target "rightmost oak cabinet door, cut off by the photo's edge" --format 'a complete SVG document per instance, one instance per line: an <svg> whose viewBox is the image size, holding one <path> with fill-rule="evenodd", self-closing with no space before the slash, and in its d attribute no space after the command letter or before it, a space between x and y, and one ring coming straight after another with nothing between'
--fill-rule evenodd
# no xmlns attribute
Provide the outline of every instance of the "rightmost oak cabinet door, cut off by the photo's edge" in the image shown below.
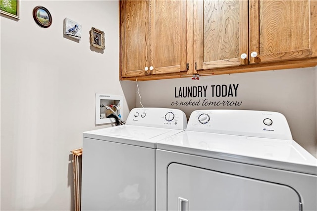
<svg viewBox="0 0 317 211"><path fill-rule="evenodd" d="M316 0L250 0L250 63L317 56Z"/></svg>

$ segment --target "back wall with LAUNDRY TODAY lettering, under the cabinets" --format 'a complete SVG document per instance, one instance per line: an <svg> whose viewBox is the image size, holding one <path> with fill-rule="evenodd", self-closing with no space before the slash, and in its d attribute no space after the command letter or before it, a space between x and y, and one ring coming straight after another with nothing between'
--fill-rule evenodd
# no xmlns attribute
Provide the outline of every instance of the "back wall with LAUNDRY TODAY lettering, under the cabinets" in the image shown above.
<svg viewBox="0 0 317 211"><path fill-rule="evenodd" d="M230 75L203 76L138 82L145 107L173 107L183 110L189 118L197 109L251 109L277 111L285 115L293 135L302 147L316 157L317 151L317 67L262 71ZM211 85L239 84L237 96L212 97ZM179 88L208 86L206 97L180 98ZM175 97L175 88L176 96ZM203 106L202 101L242 102L240 106ZM180 106L180 102L200 102L200 106ZM141 105L137 95L137 107ZM178 106L172 103L178 102Z"/></svg>

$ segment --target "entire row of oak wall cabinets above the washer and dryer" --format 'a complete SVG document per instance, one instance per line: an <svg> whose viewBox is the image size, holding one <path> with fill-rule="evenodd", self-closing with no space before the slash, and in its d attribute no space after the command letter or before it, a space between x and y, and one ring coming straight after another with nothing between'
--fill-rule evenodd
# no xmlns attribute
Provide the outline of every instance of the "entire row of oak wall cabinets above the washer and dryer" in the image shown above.
<svg viewBox="0 0 317 211"><path fill-rule="evenodd" d="M119 0L120 79L317 65L317 0Z"/></svg>

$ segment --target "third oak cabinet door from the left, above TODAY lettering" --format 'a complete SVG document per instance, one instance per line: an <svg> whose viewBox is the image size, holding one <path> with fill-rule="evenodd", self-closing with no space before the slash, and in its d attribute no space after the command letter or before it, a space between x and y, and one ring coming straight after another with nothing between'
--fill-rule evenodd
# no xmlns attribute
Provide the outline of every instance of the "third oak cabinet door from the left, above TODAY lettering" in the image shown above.
<svg viewBox="0 0 317 211"><path fill-rule="evenodd" d="M197 0L196 69L248 64L248 1ZM195 51L194 50L194 51Z"/></svg>

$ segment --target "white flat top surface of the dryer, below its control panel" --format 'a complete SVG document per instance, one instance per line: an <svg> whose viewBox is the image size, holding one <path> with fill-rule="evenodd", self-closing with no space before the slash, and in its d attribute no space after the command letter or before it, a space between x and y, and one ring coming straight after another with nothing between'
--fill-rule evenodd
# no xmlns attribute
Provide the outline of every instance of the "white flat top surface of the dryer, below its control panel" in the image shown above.
<svg viewBox="0 0 317 211"><path fill-rule="evenodd" d="M183 131L157 148L317 175L317 159L293 140Z"/></svg>

